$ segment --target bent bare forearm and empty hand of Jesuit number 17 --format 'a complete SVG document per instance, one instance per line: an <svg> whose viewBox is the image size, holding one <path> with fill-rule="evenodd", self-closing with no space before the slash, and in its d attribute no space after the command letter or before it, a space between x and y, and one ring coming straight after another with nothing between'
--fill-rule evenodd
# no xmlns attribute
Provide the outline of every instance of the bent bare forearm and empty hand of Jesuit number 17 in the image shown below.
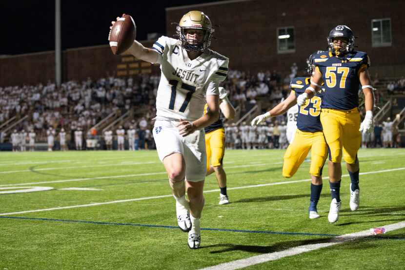
<svg viewBox="0 0 405 270"><path fill-rule="evenodd" d="M189 122L181 119L178 125L180 135L183 137L192 134L194 131L203 129L206 126L214 123L220 117L220 101L218 95L209 95L206 97L208 106L207 113L194 122Z"/></svg>

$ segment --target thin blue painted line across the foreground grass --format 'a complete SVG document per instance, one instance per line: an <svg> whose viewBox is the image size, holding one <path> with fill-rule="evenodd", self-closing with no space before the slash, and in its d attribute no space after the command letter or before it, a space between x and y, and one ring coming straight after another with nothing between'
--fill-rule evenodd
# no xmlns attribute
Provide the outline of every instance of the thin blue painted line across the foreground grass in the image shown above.
<svg viewBox="0 0 405 270"><path fill-rule="evenodd" d="M149 228L179 229L179 227L177 227L177 226L137 224L137 223L101 222L101 221L54 219L54 218L35 218L35 217L21 217L21 216L0 216L0 218L24 219L24 220L43 220L43 221L59 221L59 222L67 222L67 223L86 223L86 224L96 224L96 225L118 225L118 226L135 226L135 227L149 227ZM203 230L203 231L230 231L230 232L244 232L244 233L263 233L263 234L287 234L287 235L304 235L304 236L325 236L325 237L339 236L339 234L311 233L311 232L290 232L290 231L250 231L250 230L232 230L232 229L217 229L217 228L201 228L201 230ZM390 236L369 236L367 238L405 240L405 238L395 237L395 236L394 237L390 237Z"/></svg>

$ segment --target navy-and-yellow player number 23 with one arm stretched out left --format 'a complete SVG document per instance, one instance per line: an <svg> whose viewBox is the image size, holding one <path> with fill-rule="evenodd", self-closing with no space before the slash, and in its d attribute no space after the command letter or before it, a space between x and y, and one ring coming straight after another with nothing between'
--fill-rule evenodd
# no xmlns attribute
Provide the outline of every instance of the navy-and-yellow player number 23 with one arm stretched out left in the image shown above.
<svg viewBox="0 0 405 270"><path fill-rule="evenodd" d="M314 55L314 54L313 54ZM307 72L312 74L313 66L310 64L313 55L307 59ZM290 83L290 95L271 109L269 112L256 116L252 120L252 125L260 124L265 118L270 116L279 116L284 114L290 107L297 103L297 97L304 93L310 85L310 77L297 77ZM284 154L283 176L293 176L305 157L311 150L311 165L309 173L311 174L311 199L309 205L309 218L320 217L317 211L317 204L322 191L322 169L327 157L327 146L322 132L321 125L321 105L323 93L318 93L311 99L306 100L305 104L298 107L297 131L294 140L288 146Z"/></svg>

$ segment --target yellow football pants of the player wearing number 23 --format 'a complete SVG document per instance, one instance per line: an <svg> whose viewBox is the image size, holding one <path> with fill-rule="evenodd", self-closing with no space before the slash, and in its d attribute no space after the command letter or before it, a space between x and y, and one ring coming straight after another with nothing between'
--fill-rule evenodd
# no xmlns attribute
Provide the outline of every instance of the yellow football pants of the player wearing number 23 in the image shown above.
<svg viewBox="0 0 405 270"><path fill-rule="evenodd" d="M327 146L322 132L304 132L297 129L294 140L284 154L283 176L293 176L311 150L309 173L321 176L327 157Z"/></svg>

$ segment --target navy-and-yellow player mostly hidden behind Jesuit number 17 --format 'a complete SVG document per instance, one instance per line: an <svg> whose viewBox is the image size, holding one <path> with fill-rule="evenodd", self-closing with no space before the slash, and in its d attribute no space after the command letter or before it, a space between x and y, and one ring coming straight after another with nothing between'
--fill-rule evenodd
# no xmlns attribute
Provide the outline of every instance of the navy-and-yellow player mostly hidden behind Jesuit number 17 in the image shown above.
<svg viewBox="0 0 405 270"><path fill-rule="evenodd" d="M220 109L227 119L235 117L235 108L229 102L226 90L219 87L220 91ZM207 113L208 106L205 104L204 114ZM205 151L207 153L207 175L215 172L218 185L220 187L219 204L228 204L229 198L226 193L226 174L223 170L223 155L225 154L225 129L221 117L211 125L204 128L205 131Z"/></svg>

